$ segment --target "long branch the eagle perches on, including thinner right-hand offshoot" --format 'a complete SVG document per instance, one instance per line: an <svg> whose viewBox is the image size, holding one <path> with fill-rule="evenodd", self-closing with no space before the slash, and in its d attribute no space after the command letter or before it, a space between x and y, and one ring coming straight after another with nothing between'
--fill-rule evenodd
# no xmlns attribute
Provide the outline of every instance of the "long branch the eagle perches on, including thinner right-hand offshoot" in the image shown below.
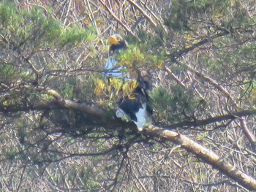
<svg viewBox="0 0 256 192"><path fill-rule="evenodd" d="M49 93L49 91L48 91ZM52 93L52 91L50 91ZM54 93L54 91L53 91ZM54 94L56 95L56 94ZM86 112L89 115L94 116L97 119L105 119L108 115L106 115L105 110L102 110L99 107L94 106L93 104L88 103L79 103L76 101L70 101L65 99L60 99L59 96L56 96L56 101L44 101L39 102L34 105L9 105L9 106L1 106L0 112L20 112L20 111L29 111L29 110L49 110L49 109L72 109L72 110L80 110L82 112ZM192 127L192 126L204 126L210 123L216 123L222 120L232 120L236 118L240 118L247 115L254 115L256 110L244 110L241 112L235 112L233 114L221 115L217 117L207 118L204 120L197 121L185 121L181 123L173 124L170 128L178 128L178 127ZM108 121L108 125L112 128L116 128L117 126L123 126L127 128L136 129L136 126L132 122L124 122L119 120L118 118L106 119ZM101 124L102 126L102 124ZM216 169L219 169L223 174L226 174L228 177L232 178L240 185L243 185L245 188L249 190L256 190L256 180L249 175L241 172L237 169L233 164L230 164L225 158L220 157L216 153L211 150L208 150L206 147L199 145L197 142L194 142L192 139L188 137L178 134L175 131L170 131L167 128L159 128L157 126L149 126L145 130L143 130L143 134L146 134L150 137L159 137L164 141L174 142L178 145L181 145L185 150L188 150L190 153L193 153L197 156L197 158L203 159L207 164L210 164Z"/></svg>

